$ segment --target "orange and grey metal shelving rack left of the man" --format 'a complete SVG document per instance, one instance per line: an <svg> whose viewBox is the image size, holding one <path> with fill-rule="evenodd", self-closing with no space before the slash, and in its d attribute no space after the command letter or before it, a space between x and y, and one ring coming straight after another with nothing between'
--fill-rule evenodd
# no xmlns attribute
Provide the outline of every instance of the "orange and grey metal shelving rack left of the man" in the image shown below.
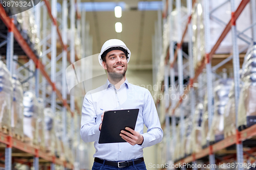
<svg viewBox="0 0 256 170"><path fill-rule="evenodd" d="M71 133L74 134L74 116L79 119L78 113L80 113L80 109L77 105L77 103L74 100L74 96L70 95L70 101L68 102L68 94L67 94L67 82L66 82L66 68L67 68L67 61L70 62L70 64L73 64L75 61L78 61L78 55L75 53L75 28L77 28L77 34L78 37L84 38L82 41L82 46L84 51L81 56L84 58L86 55L90 55L92 50L92 46L90 45L90 36L89 36L89 29L88 23L85 22L86 15L85 12L82 12L82 15L80 15L80 9L79 9L79 3L75 0L70 0L68 3L68 0L62 1L62 21L61 21L61 31L58 27L58 21L61 20L60 18L57 18L57 1L52 0L51 6L49 0L44 0L40 2L37 6L35 6L35 22L37 24L37 37L41 37L40 39L40 45L41 45L41 51L42 55L38 57L32 49L30 48L29 44L25 41L22 34L18 31L18 29L14 26L12 17L6 17L5 10L2 5L0 5L0 18L5 23L6 28L8 29L8 34L6 37L6 41L2 42L0 46L3 46L5 43L7 43L7 51L6 51L6 59L7 59L7 67L11 72L12 70L15 71L15 73L21 71L23 68L30 69L31 72L34 72L34 74L25 75L25 80L30 81L30 89L33 89L32 84L35 83L35 87L33 90L35 90L36 97L41 97L44 99L44 105L46 106L47 103L50 103L51 109L53 110L53 113L55 113L56 110L62 111L62 127L63 127L63 135L62 135L62 141L64 143L67 143L67 111L70 112L72 115L71 118ZM68 16L68 5L70 5L70 17ZM52 7L52 8L51 8ZM42 10L42 12L41 12ZM42 13L42 16L41 16ZM47 17L49 15L50 22L52 23L52 26L50 27L51 31L50 34L47 34L47 25L49 23L49 19ZM77 16L77 19L76 19ZM81 18L82 17L82 18ZM41 19L42 18L42 19ZM71 21L71 43L68 46L68 37L67 37L67 28L68 28L68 19L70 18ZM82 25L80 25L80 19L82 19ZM42 21L41 21L42 20ZM77 22L75 23L75 20ZM41 28L40 28L41 26ZM82 27L82 29L81 29ZM81 30L86 32L86 34L81 34ZM58 42L60 42L62 50L61 53L57 56L57 37L58 35ZM87 37L86 37L87 36ZM13 59L18 59L17 56L13 56L13 50L14 50L14 38L19 44L19 46L22 48L24 54L26 54L27 57L29 57L29 61L19 67L18 69L13 69ZM48 40L51 38L51 44L48 43ZM86 40L87 38L88 40ZM69 52L70 51L70 52ZM49 53L51 53L49 57ZM85 55L86 54L86 55ZM50 58L50 60L49 60ZM62 62L57 62L58 60L62 59ZM35 70L34 70L35 68ZM49 70L49 68L51 68ZM56 72L57 68L60 70ZM39 74L39 72L41 74ZM51 76L49 76L51 75ZM61 79L57 79L61 75ZM41 76L41 83L39 83L39 76ZM33 80L34 79L34 80ZM59 81L62 84L61 92L56 88L56 82ZM46 85L47 83L52 87L52 93L47 94ZM39 93L40 92L40 93ZM50 97L47 97L50 96ZM56 99L59 99L59 104L56 103ZM70 103L70 106L68 105ZM75 114L76 112L76 114ZM78 126L79 129L79 126ZM76 129L77 131L77 129ZM78 143L80 142L80 136L77 135ZM55 168L55 164L61 165L65 167L65 169L73 169L74 165L71 163L68 163L67 161L61 161L54 155L50 155L49 153L46 153L44 151L41 151L37 146L32 147L31 145L21 142L15 138L12 138L11 136L8 136L6 134L0 133L0 143L6 144L5 149L5 169L11 169L12 164L12 148L16 148L20 151L23 151L25 153L31 154L31 156L34 156L33 166L34 169L39 169L39 158L47 160L51 162L51 169ZM75 152L75 148L72 148L73 154ZM78 150L78 149L77 149ZM77 152L78 153L78 152ZM78 156L75 159L76 165Z"/></svg>

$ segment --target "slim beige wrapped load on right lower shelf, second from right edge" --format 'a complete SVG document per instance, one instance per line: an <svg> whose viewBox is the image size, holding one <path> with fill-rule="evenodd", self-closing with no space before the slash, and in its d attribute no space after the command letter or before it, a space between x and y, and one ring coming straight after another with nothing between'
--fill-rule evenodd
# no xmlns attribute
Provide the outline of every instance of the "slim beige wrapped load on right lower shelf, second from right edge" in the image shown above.
<svg viewBox="0 0 256 170"><path fill-rule="evenodd" d="M228 94L228 102L224 112L224 138L236 134L236 112L234 103L234 83Z"/></svg>

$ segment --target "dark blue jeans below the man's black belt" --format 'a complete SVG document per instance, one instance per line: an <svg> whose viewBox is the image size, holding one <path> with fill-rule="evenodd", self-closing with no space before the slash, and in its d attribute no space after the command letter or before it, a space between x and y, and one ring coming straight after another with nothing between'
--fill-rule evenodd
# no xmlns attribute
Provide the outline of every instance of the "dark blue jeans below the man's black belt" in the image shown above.
<svg viewBox="0 0 256 170"><path fill-rule="evenodd" d="M123 169L123 170L146 170L146 165L145 162L141 162L138 164L134 164L131 166L126 166L126 167L116 167L116 166L110 166L110 165L105 165L102 163L94 162L92 170L112 170L112 169Z"/></svg>

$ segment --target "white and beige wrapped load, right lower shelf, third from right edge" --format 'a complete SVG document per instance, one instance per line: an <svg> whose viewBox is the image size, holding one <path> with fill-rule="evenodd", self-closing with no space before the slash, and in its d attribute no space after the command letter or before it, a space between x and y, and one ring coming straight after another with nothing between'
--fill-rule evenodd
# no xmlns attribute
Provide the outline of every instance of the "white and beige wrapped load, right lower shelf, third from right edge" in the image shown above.
<svg viewBox="0 0 256 170"><path fill-rule="evenodd" d="M224 139L224 112L228 103L228 94L231 89L231 79L221 79L214 88L214 118L209 130L210 144Z"/></svg>

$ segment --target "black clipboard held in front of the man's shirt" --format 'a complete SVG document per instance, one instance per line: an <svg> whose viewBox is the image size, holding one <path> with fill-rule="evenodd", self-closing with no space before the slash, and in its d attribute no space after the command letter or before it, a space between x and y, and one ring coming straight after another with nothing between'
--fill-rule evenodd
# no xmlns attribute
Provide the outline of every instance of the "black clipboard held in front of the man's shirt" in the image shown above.
<svg viewBox="0 0 256 170"><path fill-rule="evenodd" d="M134 130L138 113L139 109L111 110L104 112L99 143L126 142L120 136L121 130L125 130L125 127Z"/></svg>

